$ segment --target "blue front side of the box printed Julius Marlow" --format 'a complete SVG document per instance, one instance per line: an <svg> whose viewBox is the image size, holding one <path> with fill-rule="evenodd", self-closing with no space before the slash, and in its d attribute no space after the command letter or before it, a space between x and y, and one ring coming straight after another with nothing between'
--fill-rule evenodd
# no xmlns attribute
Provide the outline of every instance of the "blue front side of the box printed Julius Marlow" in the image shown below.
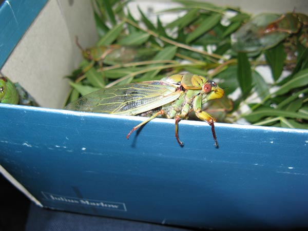
<svg viewBox="0 0 308 231"><path fill-rule="evenodd" d="M207 123L181 121L180 147L174 120L155 119L127 140L143 120L0 104L0 170L57 210L214 229L308 227L307 130L216 123L216 149Z"/></svg>

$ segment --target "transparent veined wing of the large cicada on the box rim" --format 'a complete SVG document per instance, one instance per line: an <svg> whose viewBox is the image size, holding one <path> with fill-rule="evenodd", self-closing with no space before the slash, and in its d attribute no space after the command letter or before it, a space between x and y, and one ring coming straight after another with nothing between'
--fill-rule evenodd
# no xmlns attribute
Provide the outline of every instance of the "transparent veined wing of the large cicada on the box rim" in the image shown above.
<svg viewBox="0 0 308 231"><path fill-rule="evenodd" d="M87 94L66 106L67 110L109 114L139 114L180 97L178 85L148 81L113 86Z"/></svg>

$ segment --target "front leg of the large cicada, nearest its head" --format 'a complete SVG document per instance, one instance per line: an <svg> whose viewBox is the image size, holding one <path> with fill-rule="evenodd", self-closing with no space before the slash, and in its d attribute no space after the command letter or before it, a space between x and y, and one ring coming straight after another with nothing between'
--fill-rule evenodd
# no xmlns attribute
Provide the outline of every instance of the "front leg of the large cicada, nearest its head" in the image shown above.
<svg viewBox="0 0 308 231"><path fill-rule="evenodd" d="M202 111L201 106L202 106L202 96L198 95L194 99L194 103L193 103L194 111L196 113L196 116L200 120L206 121L211 126L211 131L212 131L214 142L215 142L214 146L218 148L218 142L217 142L215 126L214 126L214 122L216 122L216 119L213 116L211 116L209 113Z"/></svg>

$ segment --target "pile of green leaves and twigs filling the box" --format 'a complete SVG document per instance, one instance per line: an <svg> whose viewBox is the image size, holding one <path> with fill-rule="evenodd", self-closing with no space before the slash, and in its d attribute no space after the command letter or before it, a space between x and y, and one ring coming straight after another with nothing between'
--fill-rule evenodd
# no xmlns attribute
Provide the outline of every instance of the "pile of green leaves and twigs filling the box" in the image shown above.
<svg viewBox="0 0 308 231"><path fill-rule="evenodd" d="M181 7L160 12L153 22L140 8L137 19L129 1L93 0L100 39L88 49L92 59L85 56L67 76L72 89L66 104L100 88L191 72L224 88L224 99L206 105L221 122L244 118L256 125L308 127L308 50L298 43L301 34L268 49L236 52L232 36L252 15L232 6L174 2ZM170 12L182 16L163 23L160 18ZM261 66L269 67L269 78Z"/></svg>

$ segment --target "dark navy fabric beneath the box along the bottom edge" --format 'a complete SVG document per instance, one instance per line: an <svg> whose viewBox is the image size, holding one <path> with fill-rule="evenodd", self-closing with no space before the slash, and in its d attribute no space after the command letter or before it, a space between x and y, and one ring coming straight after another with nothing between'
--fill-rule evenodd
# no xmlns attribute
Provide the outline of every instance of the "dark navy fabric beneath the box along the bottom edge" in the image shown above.
<svg viewBox="0 0 308 231"><path fill-rule="evenodd" d="M187 231L189 229L40 208L31 204L26 231Z"/></svg>

